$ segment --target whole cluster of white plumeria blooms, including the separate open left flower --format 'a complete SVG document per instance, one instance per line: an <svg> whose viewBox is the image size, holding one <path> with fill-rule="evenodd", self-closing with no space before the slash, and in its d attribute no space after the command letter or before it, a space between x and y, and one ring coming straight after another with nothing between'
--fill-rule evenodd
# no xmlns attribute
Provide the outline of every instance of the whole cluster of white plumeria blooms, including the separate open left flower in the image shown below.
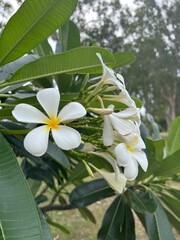
<svg viewBox="0 0 180 240"><path fill-rule="evenodd" d="M118 192L122 192L127 180L133 180L138 174L138 165L144 171L147 170L148 161L143 149L145 144L140 136L139 126L141 124L139 109L134 100L126 90L125 82L120 74L108 68L99 53L97 56L102 64L103 75L101 80L92 84L86 89L86 95L81 102L88 106L92 99L99 101L100 108L87 107L91 118L100 115L103 119L101 145L104 151L95 150L88 152L104 158L113 168L113 172L105 172L96 168L91 163L89 166L94 168L109 185ZM102 89L107 88L117 94L101 96ZM90 91L89 91L90 90ZM37 93L37 100L45 113L29 104L18 104L12 111L13 116L20 122L34 123L37 126L31 130L24 139L24 147L35 156L42 156L48 148L48 139L51 133L54 142L63 150L77 148L81 143L81 135L74 128L82 124L80 118L86 117L87 111L79 102L70 102L59 111L60 93L56 88L40 90ZM125 107L121 109L113 104L104 106L104 101L110 103L122 103ZM78 101L78 98L77 98ZM87 104L88 103L88 104ZM102 117L101 117L102 116ZM78 124L72 122L76 120ZM81 126L83 129L88 127L87 121ZM72 128L73 126L74 128ZM51 137L50 136L50 137ZM86 138L84 138L86 139Z"/></svg>

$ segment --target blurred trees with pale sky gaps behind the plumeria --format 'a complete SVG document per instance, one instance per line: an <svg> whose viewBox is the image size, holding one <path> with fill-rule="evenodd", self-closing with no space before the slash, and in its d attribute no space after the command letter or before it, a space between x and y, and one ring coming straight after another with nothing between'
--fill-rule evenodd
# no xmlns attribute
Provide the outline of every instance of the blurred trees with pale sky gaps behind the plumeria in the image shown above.
<svg viewBox="0 0 180 240"><path fill-rule="evenodd" d="M84 45L136 54L136 62L121 73L129 92L142 99L161 130L167 130L172 119L180 115L180 2L127 2L128 5L120 0L79 0L73 21L81 30ZM1 19L10 12L11 2L1 0Z"/></svg>

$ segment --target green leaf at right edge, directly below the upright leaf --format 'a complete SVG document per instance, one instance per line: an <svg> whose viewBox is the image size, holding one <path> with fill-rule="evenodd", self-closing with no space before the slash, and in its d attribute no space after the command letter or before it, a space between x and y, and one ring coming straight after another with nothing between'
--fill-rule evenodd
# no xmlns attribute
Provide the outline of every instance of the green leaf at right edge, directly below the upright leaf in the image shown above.
<svg viewBox="0 0 180 240"><path fill-rule="evenodd" d="M169 155L161 162L156 171L156 176L171 176L180 172L180 150Z"/></svg>

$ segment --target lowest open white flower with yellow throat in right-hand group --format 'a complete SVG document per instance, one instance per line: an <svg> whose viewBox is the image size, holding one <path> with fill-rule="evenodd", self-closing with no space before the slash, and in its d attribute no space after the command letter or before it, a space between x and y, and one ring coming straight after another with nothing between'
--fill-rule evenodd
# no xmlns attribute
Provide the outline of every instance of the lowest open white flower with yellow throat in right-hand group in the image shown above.
<svg viewBox="0 0 180 240"><path fill-rule="evenodd" d="M138 175L138 164L146 172L148 160L142 149L146 148L142 138L135 133L123 137L123 143L118 144L114 151L117 163L124 167L124 175L133 180Z"/></svg>

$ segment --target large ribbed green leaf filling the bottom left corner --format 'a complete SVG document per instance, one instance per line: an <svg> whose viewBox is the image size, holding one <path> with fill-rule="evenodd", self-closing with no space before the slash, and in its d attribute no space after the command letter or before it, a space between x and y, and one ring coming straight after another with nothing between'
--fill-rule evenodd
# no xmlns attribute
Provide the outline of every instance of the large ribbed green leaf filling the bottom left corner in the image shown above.
<svg viewBox="0 0 180 240"><path fill-rule="evenodd" d="M3 192L0 194L0 228L3 238L51 240L51 237L45 236L45 228L28 183L2 135L0 135L0 159L0 192Z"/></svg>

